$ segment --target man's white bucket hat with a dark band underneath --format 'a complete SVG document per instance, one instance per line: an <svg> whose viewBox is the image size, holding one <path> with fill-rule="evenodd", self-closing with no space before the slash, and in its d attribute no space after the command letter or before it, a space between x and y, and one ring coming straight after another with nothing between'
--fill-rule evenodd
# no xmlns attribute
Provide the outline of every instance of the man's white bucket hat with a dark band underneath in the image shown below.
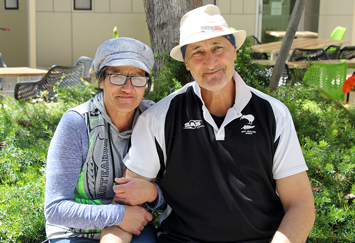
<svg viewBox="0 0 355 243"><path fill-rule="evenodd" d="M181 47L187 44L208 40L217 36L233 34L238 50L245 41L245 30L231 30L220 15L219 8L213 4L195 8L181 18L180 44L170 52L170 57L184 61Z"/></svg>

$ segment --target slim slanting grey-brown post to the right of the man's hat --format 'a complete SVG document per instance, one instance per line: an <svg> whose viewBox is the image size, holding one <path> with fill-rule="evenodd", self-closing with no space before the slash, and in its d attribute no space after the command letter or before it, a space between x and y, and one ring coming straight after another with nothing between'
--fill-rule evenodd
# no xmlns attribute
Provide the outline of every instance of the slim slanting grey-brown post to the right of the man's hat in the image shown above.
<svg viewBox="0 0 355 243"><path fill-rule="evenodd" d="M273 75L271 76L269 84L269 88L271 90L277 90L278 88L279 80L284 70L284 64L286 63L288 52L291 48L292 41L294 39L294 34L296 33L298 23L301 18L305 4L306 0L296 0L294 4L291 18L288 22L286 34L284 36L284 40L280 48L279 56L276 59Z"/></svg>

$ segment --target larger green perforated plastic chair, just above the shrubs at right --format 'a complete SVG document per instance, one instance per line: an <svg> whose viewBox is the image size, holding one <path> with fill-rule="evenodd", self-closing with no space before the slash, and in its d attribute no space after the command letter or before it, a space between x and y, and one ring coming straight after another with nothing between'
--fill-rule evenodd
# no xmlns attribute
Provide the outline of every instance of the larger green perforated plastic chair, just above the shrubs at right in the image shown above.
<svg viewBox="0 0 355 243"><path fill-rule="evenodd" d="M304 74L305 84L317 86L323 95L345 101L342 86L347 78L348 63L325 64L313 62Z"/></svg>

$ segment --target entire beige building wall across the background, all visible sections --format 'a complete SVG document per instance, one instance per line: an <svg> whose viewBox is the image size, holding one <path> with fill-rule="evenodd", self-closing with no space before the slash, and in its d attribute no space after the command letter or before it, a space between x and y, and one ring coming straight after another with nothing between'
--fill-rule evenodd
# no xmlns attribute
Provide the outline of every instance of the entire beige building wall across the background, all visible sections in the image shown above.
<svg viewBox="0 0 355 243"><path fill-rule="evenodd" d="M73 10L73 0L36 0L37 65L72 65L80 56L93 58L97 47L112 38L116 25L120 37L132 37L150 45L142 0L92 0L92 10ZM214 3L230 27L255 33L255 0L204 0ZM319 0L318 26L314 8L305 12L306 30L317 28L320 38L329 38L340 25L347 27L345 39L355 45L355 0ZM344 7L347 6L347 7ZM307 11L308 9L308 11ZM27 1L18 10L5 10L0 0L0 53L8 66L28 66Z"/></svg>

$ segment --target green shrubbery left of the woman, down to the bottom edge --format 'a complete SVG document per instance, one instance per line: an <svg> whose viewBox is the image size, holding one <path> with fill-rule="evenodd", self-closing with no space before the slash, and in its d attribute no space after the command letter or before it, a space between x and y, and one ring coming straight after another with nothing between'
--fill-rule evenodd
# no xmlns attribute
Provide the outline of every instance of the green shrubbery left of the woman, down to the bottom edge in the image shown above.
<svg viewBox="0 0 355 243"><path fill-rule="evenodd" d="M92 87L58 89L58 102L0 98L0 242L46 239L43 213L47 150L63 113L90 99Z"/></svg>

